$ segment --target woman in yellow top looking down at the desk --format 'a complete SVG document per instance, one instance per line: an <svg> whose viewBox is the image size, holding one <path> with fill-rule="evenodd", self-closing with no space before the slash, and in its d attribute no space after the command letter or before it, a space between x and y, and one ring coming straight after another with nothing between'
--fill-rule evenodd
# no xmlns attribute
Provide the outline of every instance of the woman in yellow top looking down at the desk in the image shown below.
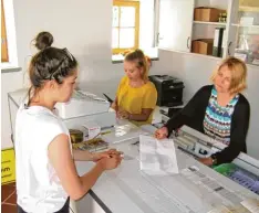
<svg viewBox="0 0 259 213"><path fill-rule="evenodd" d="M146 56L141 50L126 54L124 58L126 76L122 78L112 104L118 117L128 119L137 126L152 123L157 100L156 87L148 81L148 70Z"/></svg>

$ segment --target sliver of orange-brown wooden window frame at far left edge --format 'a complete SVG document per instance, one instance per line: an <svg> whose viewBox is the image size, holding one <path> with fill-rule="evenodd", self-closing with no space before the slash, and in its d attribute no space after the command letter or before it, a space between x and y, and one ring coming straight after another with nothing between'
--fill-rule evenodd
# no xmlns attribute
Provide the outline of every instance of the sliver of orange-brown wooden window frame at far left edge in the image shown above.
<svg viewBox="0 0 259 213"><path fill-rule="evenodd" d="M7 41L7 30L6 30L6 19L4 19L4 10L3 2L1 1L1 62L8 62L8 41Z"/></svg>

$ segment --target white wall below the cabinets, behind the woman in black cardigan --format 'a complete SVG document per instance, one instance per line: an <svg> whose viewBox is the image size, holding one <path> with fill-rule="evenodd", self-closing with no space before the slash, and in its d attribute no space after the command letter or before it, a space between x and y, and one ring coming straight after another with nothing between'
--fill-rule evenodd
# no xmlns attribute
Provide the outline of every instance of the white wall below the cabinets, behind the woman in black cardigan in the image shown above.
<svg viewBox="0 0 259 213"><path fill-rule="evenodd" d="M220 60L197 54L159 51L154 65L156 74L169 74L184 81L184 98L188 100L204 85L210 84L211 72ZM259 159L259 67L248 65L248 89L244 93L250 103L250 127L247 136L248 155Z"/></svg>

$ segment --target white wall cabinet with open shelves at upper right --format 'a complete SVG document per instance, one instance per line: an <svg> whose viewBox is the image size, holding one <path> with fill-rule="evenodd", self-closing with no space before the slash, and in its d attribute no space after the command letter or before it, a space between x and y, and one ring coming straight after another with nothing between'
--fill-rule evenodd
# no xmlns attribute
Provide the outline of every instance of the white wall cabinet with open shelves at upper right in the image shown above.
<svg viewBox="0 0 259 213"><path fill-rule="evenodd" d="M253 25L240 24L240 18L249 17L250 13L246 15L241 13L245 8L239 7L239 1L241 2L241 0L159 0L159 33L157 38L160 45L158 47L190 53L191 41L214 39L215 29L224 28L222 57L235 55L235 51L239 47L238 36L240 33L252 35L253 39L255 35L259 38L259 8L246 4L246 11L250 13L256 11L258 15L255 17ZM225 10L227 22L194 21L194 10L198 7ZM163 28L160 28L162 25Z"/></svg>

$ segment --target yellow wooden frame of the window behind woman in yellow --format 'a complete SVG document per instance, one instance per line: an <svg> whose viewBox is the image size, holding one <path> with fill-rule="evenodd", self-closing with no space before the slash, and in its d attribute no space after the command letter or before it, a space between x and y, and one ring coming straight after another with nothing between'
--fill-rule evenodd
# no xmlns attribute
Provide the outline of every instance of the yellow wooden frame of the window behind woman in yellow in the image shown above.
<svg viewBox="0 0 259 213"><path fill-rule="evenodd" d="M137 49L138 40L139 40L139 1L131 1L131 0L113 0L113 7L134 7L135 8L135 38L134 38L134 46L127 49L115 47L112 49L113 54L123 53L128 49ZM120 42L120 13L118 13L118 26L112 26L112 29L118 29L118 42Z"/></svg>

